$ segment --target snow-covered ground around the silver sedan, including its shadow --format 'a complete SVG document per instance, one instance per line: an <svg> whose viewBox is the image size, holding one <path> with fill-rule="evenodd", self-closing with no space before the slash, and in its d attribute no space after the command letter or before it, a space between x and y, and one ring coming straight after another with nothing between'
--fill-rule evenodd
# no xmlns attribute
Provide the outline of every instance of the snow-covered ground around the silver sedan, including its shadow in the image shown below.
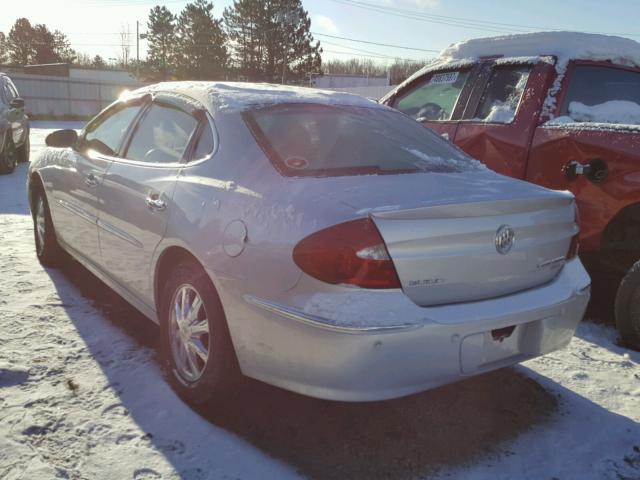
<svg viewBox="0 0 640 480"><path fill-rule="evenodd" d="M59 124L33 127L35 154ZM25 173L0 177L2 479L640 479L640 353L589 321L564 351L405 399L247 380L196 413L153 324L77 264L39 265Z"/></svg>

